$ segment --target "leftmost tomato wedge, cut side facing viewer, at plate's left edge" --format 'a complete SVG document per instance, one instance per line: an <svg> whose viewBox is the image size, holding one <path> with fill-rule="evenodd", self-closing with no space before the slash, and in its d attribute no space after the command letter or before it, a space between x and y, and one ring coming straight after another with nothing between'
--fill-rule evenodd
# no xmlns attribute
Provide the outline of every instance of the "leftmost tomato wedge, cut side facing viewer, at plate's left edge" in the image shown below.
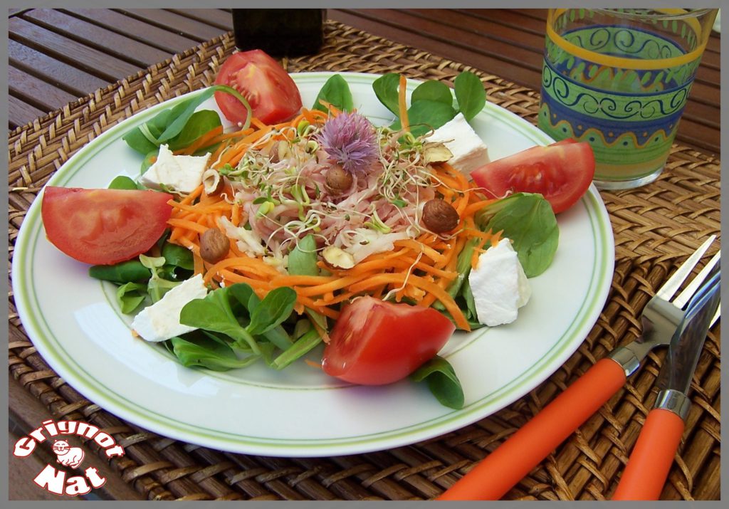
<svg viewBox="0 0 729 509"><path fill-rule="evenodd" d="M167 228L172 199L142 190L47 186L41 215L51 243L79 262L111 265L147 251Z"/></svg>

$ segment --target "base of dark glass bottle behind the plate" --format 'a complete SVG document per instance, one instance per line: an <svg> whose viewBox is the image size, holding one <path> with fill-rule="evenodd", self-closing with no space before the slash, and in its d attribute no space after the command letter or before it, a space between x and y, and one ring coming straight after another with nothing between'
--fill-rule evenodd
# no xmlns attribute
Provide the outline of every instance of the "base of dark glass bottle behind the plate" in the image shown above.
<svg viewBox="0 0 729 509"><path fill-rule="evenodd" d="M271 56L312 55L324 43L327 9L233 9L235 47Z"/></svg>

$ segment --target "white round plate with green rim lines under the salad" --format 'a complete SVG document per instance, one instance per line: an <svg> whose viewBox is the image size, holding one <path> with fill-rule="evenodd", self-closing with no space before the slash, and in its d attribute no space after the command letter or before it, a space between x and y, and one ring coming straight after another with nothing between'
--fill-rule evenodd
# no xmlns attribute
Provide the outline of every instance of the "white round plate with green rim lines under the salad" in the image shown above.
<svg viewBox="0 0 729 509"><path fill-rule="evenodd" d="M371 74L345 74L355 106L375 123L391 114L375 98ZM305 105L326 73L294 74ZM408 82L413 90L417 82ZM122 135L182 100L134 115L79 150L50 184L106 187L139 173L141 156ZM214 101L205 105L214 108ZM550 139L507 110L486 104L472 121L492 159ZM270 456L330 456L375 451L471 424L534 389L577 349L604 306L614 264L607 211L594 187L559 216L553 265L531 279L532 297L510 325L456 333L442 355L466 395L451 410L422 384L351 386L304 362L276 372L263 365L214 373L184 368L160 346L135 339L114 304L111 284L44 236L41 199L15 244L12 281L20 319L48 364L89 400L122 419L171 438L226 451ZM314 357L316 357L314 355Z"/></svg>

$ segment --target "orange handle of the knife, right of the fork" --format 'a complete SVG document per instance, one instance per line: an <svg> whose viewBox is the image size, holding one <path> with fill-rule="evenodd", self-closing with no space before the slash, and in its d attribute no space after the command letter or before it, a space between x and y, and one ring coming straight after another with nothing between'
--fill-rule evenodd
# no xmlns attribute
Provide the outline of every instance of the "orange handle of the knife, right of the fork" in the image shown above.
<svg viewBox="0 0 729 509"><path fill-rule="evenodd" d="M658 500L684 426L670 410L654 408L648 413L612 500Z"/></svg>

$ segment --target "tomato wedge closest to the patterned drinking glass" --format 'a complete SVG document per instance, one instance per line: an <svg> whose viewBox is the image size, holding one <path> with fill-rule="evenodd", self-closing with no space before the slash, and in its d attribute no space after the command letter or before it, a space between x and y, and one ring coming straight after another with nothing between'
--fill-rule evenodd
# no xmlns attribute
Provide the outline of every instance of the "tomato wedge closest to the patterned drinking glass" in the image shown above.
<svg viewBox="0 0 729 509"><path fill-rule="evenodd" d="M471 172L474 182L495 196L507 191L540 193L555 214L569 209L585 194L594 174L592 147L574 140L531 147Z"/></svg>

